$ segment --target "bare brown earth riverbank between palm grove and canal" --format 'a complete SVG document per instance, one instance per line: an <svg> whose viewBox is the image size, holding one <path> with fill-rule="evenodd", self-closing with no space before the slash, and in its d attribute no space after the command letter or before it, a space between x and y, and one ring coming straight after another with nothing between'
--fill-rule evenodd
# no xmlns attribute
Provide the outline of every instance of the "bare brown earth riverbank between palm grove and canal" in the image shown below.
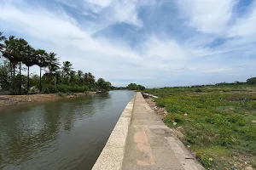
<svg viewBox="0 0 256 170"><path fill-rule="evenodd" d="M21 105L32 102L45 102L56 99L69 99L79 96L96 94L96 92L75 94L30 94L30 95L0 95L0 107L6 105Z"/></svg>

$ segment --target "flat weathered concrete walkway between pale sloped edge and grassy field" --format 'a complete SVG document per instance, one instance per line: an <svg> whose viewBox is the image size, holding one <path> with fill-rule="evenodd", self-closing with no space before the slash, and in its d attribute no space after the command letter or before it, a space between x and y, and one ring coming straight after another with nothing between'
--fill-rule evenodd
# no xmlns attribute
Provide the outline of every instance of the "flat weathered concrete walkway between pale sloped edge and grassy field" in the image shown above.
<svg viewBox="0 0 256 170"><path fill-rule="evenodd" d="M134 100L125 144L124 170L204 169L148 106L143 95Z"/></svg>

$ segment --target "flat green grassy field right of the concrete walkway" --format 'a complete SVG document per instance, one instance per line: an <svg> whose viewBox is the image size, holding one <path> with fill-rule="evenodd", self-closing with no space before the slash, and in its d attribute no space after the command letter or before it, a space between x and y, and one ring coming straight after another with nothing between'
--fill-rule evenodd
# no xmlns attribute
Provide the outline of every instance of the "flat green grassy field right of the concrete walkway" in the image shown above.
<svg viewBox="0 0 256 170"><path fill-rule="evenodd" d="M256 86L146 89L206 169L256 168Z"/></svg>

